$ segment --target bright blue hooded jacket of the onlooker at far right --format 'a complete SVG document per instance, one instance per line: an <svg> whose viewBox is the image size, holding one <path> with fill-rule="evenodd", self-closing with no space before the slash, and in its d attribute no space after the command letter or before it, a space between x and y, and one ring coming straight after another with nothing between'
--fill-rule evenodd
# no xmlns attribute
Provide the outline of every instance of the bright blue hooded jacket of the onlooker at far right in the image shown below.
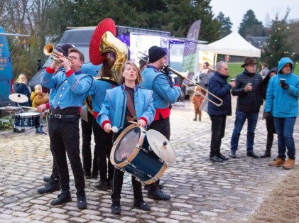
<svg viewBox="0 0 299 223"><path fill-rule="evenodd" d="M286 63L292 65L292 70L289 74L282 74L281 69ZM269 81L265 112L272 112L273 117L290 118L298 116L299 77L293 74L293 69L293 61L290 58L281 58L278 63L277 75ZM279 85L281 78L286 79L286 83L290 85L288 89L283 89Z"/></svg>

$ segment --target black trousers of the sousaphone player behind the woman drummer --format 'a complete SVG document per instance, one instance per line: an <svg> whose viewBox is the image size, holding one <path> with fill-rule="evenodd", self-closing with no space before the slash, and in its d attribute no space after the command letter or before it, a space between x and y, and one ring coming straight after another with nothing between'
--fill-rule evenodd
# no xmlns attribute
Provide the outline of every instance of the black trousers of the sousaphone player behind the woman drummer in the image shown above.
<svg viewBox="0 0 299 223"><path fill-rule="evenodd" d="M112 165L110 161L113 134L107 134L107 132L99 126L96 119L92 122L92 130L94 132L94 154L97 153L99 178L100 180L113 180L114 165Z"/></svg>

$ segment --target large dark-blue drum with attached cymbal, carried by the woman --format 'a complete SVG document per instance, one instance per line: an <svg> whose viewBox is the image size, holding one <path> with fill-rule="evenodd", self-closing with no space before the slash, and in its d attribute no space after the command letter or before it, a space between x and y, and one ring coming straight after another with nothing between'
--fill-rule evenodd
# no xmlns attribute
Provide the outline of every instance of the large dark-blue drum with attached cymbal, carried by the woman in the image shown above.
<svg viewBox="0 0 299 223"><path fill-rule="evenodd" d="M116 138L110 154L110 161L116 168L131 173L136 180L146 185L156 182L168 168L168 162L159 158L153 147L167 151L164 153L175 157L167 138L160 134L157 141L157 134L160 133L155 130L146 132L136 124L129 126Z"/></svg>

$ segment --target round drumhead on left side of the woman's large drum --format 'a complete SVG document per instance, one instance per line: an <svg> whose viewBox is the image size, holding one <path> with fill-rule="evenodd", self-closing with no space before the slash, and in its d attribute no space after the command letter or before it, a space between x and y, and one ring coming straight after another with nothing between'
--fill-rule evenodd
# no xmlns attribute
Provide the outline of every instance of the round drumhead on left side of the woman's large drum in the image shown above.
<svg viewBox="0 0 299 223"><path fill-rule="evenodd" d="M128 128L126 130L119 135L120 139L119 137L117 138L119 141L116 145L113 157L116 164L123 163L131 155L131 153L133 153L140 138L140 128L134 127L133 129Z"/></svg>

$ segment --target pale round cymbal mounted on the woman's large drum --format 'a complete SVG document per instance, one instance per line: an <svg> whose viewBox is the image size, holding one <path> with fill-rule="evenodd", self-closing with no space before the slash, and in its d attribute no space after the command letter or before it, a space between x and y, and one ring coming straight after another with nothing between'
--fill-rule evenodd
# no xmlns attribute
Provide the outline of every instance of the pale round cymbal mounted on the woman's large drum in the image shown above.
<svg viewBox="0 0 299 223"><path fill-rule="evenodd" d="M166 163L175 163L176 156L173 146L171 146L168 139L160 132L150 129L147 133L148 143L156 155Z"/></svg>

